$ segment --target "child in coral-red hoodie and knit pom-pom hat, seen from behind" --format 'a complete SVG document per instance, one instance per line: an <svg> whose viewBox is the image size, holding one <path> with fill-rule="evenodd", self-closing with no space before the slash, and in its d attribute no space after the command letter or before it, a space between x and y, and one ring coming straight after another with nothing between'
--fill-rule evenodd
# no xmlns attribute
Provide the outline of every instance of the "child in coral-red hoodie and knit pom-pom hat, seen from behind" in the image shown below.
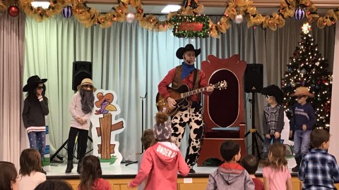
<svg viewBox="0 0 339 190"><path fill-rule="evenodd" d="M181 175L189 174L182 153L176 144L172 143L171 122L166 113L157 113L156 124L153 127L157 143L148 148L143 156L141 168L128 187L138 186L148 177L145 190L172 190L177 189L178 171Z"/></svg>

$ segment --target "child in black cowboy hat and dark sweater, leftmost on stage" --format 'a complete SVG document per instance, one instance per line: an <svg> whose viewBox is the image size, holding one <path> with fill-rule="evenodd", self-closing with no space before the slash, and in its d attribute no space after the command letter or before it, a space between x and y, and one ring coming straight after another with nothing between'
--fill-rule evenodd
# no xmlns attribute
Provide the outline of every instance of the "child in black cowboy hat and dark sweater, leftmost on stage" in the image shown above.
<svg viewBox="0 0 339 190"><path fill-rule="evenodd" d="M30 148L39 151L42 161L44 160L44 150L46 148L46 123L44 117L49 114L48 99L44 96L46 91L44 82L47 82L47 79L40 79L37 75L28 78L27 84L23 87L23 91L27 91L27 94L23 102L22 114L23 125L30 141Z"/></svg>

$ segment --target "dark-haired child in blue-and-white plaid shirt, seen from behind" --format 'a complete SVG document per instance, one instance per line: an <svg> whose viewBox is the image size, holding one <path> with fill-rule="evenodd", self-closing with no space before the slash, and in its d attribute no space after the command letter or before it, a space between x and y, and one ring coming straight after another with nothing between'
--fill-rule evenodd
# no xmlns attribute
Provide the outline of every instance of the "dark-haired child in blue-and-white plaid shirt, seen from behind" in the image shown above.
<svg viewBox="0 0 339 190"><path fill-rule="evenodd" d="M315 148L302 158L298 172L302 189L336 189L334 183L339 182L339 167L335 157L327 153L330 134L324 129L314 129L311 144Z"/></svg>

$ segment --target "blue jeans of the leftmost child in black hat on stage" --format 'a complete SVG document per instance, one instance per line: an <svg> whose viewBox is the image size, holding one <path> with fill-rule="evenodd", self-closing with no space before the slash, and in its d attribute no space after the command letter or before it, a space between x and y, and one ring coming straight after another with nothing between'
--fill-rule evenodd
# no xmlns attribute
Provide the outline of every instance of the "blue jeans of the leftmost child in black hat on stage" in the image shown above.
<svg viewBox="0 0 339 190"><path fill-rule="evenodd" d="M41 156L41 161L44 160L44 149L46 149L46 132L30 132L28 133L30 140L30 148L37 149Z"/></svg>

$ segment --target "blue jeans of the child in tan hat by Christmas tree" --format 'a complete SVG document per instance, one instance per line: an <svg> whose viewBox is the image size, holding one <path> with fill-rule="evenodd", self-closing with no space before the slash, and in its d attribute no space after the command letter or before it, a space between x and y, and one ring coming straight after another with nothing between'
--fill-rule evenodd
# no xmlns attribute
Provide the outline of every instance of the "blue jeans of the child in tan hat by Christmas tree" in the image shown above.
<svg viewBox="0 0 339 190"><path fill-rule="evenodd" d="M311 141L311 130L295 131L295 157L304 156L309 152L309 142Z"/></svg>

